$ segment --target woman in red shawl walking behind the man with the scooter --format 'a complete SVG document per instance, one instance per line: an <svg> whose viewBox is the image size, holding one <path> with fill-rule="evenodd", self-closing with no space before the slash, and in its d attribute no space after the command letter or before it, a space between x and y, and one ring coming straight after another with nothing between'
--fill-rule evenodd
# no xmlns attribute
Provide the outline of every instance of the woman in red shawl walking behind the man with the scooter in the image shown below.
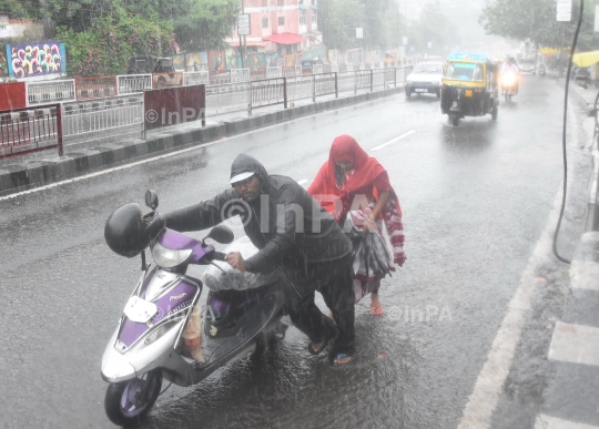
<svg viewBox="0 0 599 429"><path fill-rule="evenodd" d="M331 146L328 161L321 167L318 175L307 192L335 217L342 227L345 225L344 232L349 232L347 226L351 225L353 231L359 231L364 234L378 234L383 242L380 231L383 223L385 223L393 246L393 263L399 266L404 264L406 261L404 254L405 236L397 194L389 183L387 171L383 168L378 161L368 156L353 137L342 135L335 139ZM356 243L356 241L354 242ZM372 243L372 241L368 241L368 243ZM366 244L366 247L368 246ZM374 253L370 248L362 249L364 245L358 247L362 255ZM383 247L386 248L386 246ZM388 252L383 252L389 259ZM380 256L380 253L375 255L375 259L376 256ZM364 259L364 256L362 258ZM370 263L358 259L361 257L356 257L355 247L354 269L356 277L354 279L354 292L356 302L366 294L372 293L370 313L382 315L384 309L378 297L378 286L386 273L395 270L393 263L388 261L388 267L383 267L378 272L375 269L374 272L379 274L374 275L368 267L373 265L372 258ZM376 265L376 262L374 265Z"/></svg>

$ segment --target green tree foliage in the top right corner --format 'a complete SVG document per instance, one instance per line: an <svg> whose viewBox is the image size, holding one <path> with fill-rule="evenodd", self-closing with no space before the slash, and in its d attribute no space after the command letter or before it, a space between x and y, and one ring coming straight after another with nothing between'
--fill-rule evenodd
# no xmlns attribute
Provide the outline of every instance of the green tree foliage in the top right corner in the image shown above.
<svg viewBox="0 0 599 429"><path fill-rule="evenodd" d="M573 0L572 3L572 20L557 22L555 0L495 0L483 10L479 22L489 34L515 40L528 39L539 47L570 45L579 17L579 2ZM599 4L599 0L585 0L579 41L581 50L596 49L599 41L593 33L596 4Z"/></svg>

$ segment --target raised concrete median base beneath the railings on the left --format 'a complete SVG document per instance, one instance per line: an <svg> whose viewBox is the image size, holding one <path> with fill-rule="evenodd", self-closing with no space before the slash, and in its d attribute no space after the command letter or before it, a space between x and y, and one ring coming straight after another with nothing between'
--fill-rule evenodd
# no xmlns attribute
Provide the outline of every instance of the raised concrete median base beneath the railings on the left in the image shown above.
<svg viewBox="0 0 599 429"><path fill-rule="evenodd" d="M209 142L225 136L257 130L264 126L292 121L302 116L339 109L346 105L392 96L404 91L404 86L369 92L359 90L335 95L318 96L290 102L288 109L282 104L254 109L247 112L231 112L206 118L206 126L200 121L169 126L149 132L141 139L141 130L129 131L126 135L109 135L80 142L67 142L64 156L58 150L14 156L0 161L0 196L27 191L51 183L73 178L101 170L142 161Z"/></svg>

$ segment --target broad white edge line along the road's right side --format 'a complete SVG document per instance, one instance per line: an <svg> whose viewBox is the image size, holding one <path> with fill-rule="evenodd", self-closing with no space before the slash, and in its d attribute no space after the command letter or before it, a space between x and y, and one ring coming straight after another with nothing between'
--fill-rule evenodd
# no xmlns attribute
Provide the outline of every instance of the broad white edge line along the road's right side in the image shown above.
<svg viewBox="0 0 599 429"><path fill-rule="evenodd" d="M573 115L568 115L570 130L571 123L575 122L572 119ZM573 133L573 136L575 140L578 140L578 133ZM544 263L555 263L552 254L554 232L561 208L561 186L556 194L552 207L545 229L522 273L520 286L509 303L508 313L493 341L487 361L476 379L475 388L468 398L458 429L486 429L490 427L490 419L511 366L516 345L520 340L525 313L530 307L530 298L536 287L536 269Z"/></svg>

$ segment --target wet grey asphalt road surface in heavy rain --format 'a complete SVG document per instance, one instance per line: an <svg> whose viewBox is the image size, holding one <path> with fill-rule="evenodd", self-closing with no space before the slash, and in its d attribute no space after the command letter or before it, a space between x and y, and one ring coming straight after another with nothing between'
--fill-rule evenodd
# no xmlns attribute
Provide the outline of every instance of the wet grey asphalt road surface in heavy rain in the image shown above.
<svg viewBox="0 0 599 429"><path fill-rule="evenodd" d="M0 426L112 427L100 359L140 275L104 244L114 208L146 188L162 212L212 196L241 152L309 183L351 134L389 172L408 256L384 282L385 316L357 305L355 361L332 369L291 328L199 386L171 387L144 426L455 428L561 183L561 96L524 76L497 122L457 129L435 98L395 96L0 201ZM565 253L578 233L567 229Z"/></svg>

